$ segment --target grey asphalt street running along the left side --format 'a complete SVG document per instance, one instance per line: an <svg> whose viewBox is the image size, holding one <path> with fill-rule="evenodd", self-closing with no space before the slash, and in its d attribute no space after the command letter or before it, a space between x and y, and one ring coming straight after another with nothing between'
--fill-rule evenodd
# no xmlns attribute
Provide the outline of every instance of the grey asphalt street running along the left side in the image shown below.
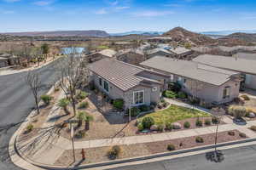
<svg viewBox="0 0 256 170"><path fill-rule="evenodd" d="M50 84L55 80L56 73L54 65L56 62L58 60L38 69L44 85L40 94L47 92ZM27 72L21 72L13 75L0 76L0 126L25 120L26 116L35 106L32 92L25 82L26 74ZM7 147L9 139L17 128L12 128L7 133L0 132L0 170L20 169L15 167L9 160Z"/></svg>

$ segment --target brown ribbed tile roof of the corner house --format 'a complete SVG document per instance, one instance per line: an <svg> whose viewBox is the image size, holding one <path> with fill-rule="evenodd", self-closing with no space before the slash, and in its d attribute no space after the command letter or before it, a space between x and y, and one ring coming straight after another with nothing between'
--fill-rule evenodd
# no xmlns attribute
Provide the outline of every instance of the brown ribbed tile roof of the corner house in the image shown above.
<svg viewBox="0 0 256 170"><path fill-rule="evenodd" d="M147 71L146 69L114 59L106 58L96 61L89 65L89 69L123 91L134 88L145 80L154 82L154 80L137 76L138 73Z"/></svg>

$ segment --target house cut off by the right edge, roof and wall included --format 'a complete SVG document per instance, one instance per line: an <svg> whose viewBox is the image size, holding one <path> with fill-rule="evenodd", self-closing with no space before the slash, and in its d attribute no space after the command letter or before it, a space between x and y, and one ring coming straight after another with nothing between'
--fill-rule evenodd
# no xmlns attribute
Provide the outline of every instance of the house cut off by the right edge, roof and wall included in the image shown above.
<svg viewBox="0 0 256 170"><path fill-rule="evenodd" d="M242 85L244 85L245 88L256 89L256 60L209 54L199 55L193 60L201 64L240 72L244 76Z"/></svg>

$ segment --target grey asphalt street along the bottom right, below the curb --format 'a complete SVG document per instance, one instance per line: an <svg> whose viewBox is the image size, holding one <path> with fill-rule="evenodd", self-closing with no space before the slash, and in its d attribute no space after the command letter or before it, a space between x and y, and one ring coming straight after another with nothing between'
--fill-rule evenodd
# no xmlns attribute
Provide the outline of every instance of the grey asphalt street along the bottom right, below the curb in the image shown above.
<svg viewBox="0 0 256 170"><path fill-rule="evenodd" d="M255 170L256 145L224 150L224 161L207 161L205 154L157 161L114 170ZM113 170L113 169L112 169Z"/></svg>

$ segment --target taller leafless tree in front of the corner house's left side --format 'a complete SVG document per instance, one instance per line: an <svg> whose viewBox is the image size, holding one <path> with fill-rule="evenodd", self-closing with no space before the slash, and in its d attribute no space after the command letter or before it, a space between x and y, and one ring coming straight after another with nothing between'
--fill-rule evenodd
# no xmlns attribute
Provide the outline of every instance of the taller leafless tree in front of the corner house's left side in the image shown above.
<svg viewBox="0 0 256 170"><path fill-rule="evenodd" d="M68 48L66 57L56 66L60 72L60 87L70 98L73 114L76 116L77 89L83 88L88 83L87 59L81 57L76 48Z"/></svg>

